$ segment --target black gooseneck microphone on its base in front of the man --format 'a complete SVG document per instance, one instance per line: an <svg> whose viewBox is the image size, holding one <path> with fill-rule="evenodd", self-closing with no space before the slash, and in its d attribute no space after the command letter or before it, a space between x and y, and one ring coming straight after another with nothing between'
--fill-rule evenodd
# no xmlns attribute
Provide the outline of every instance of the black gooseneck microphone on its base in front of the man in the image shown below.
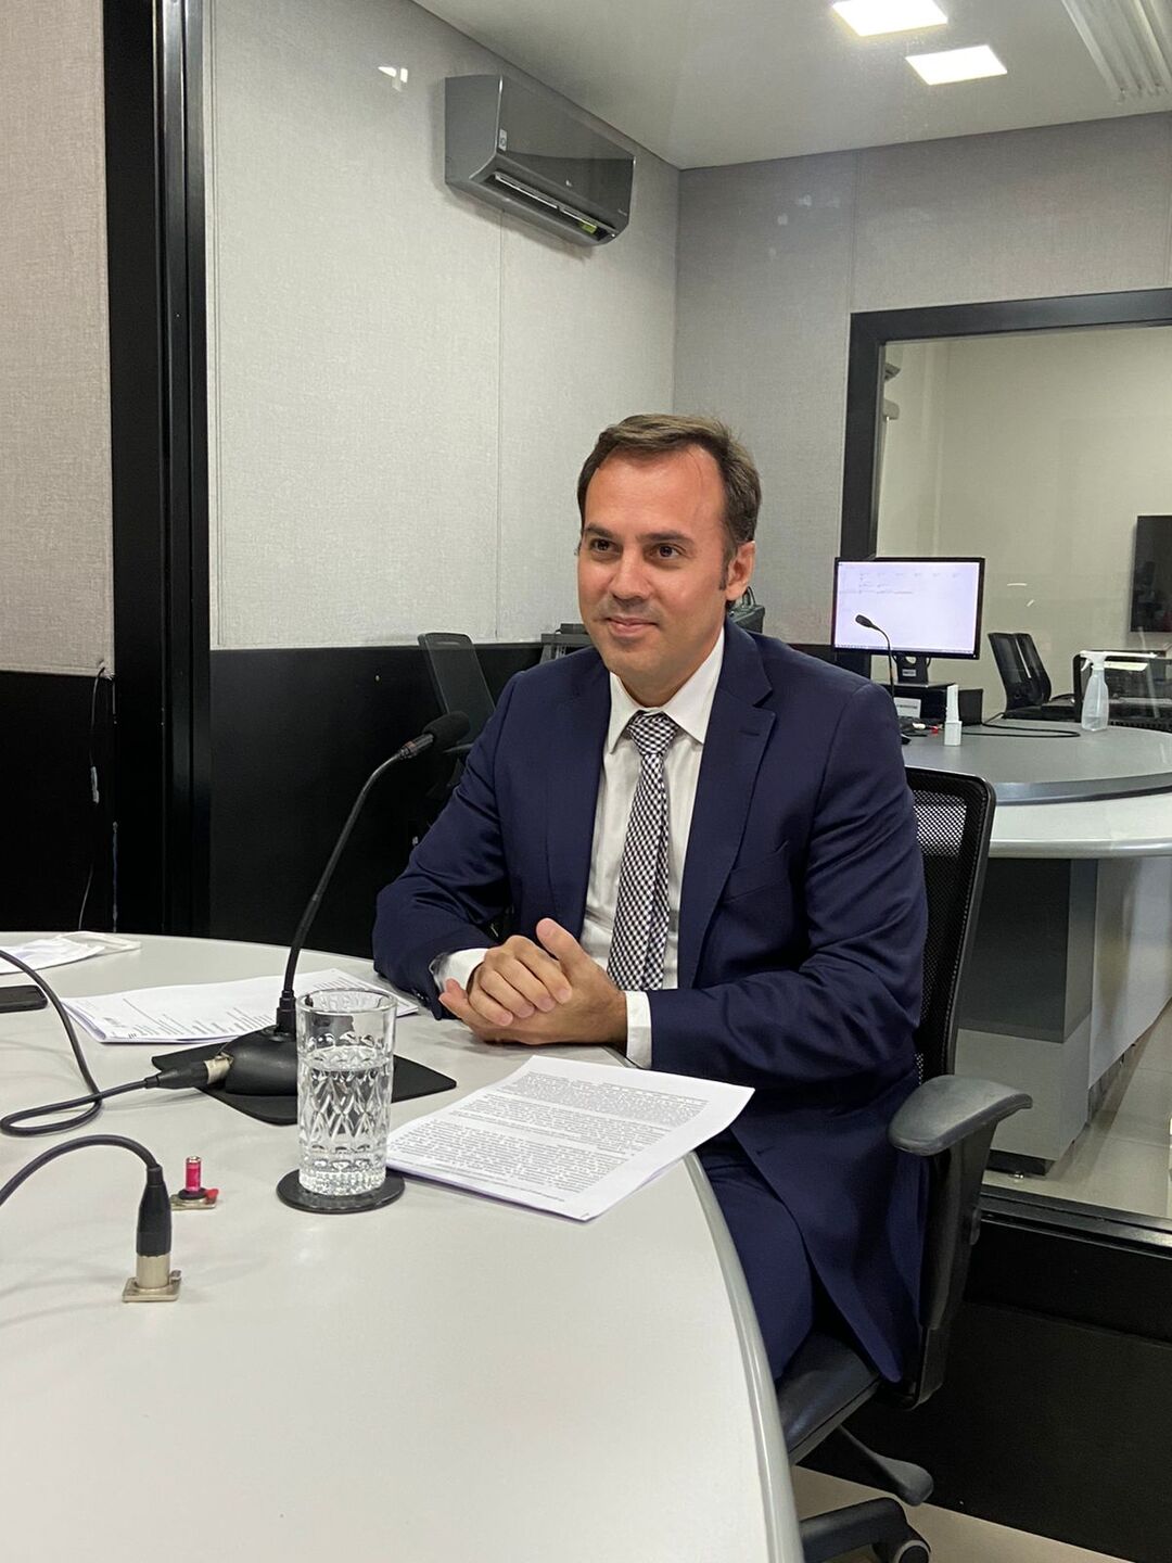
<svg viewBox="0 0 1172 1563"><path fill-rule="evenodd" d="M427 753L428 749L450 749L464 733L467 733L467 716L463 711L447 711L444 716L438 716L434 722L428 722L417 738L397 749L389 760L384 760L367 777L322 869L317 888L302 913L302 921L297 924L297 932L289 947L289 960L284 963L281 997L277 1003L273 1024L261 1027L259 1032L247 1032L244 1036L236 1036L233 1041L225 1043L216 1055L216 1061L228 1060L223 1077L225 1089L239 1091L242 1096L297 1094L297 996L292 989L294 972L297 971L297 960L309 936L313 921L317 916L317 908L322 903L322 896L333 878L342 849L350 839L350 832L355 828L355 822L363 813L375 782L391 766L397 766L403 760L416 760L419 755Z"/></svg>

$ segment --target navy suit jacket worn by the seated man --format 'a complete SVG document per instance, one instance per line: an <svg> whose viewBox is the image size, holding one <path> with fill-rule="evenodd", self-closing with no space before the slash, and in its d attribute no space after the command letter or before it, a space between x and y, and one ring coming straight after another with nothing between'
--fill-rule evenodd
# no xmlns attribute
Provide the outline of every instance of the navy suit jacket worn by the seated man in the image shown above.
<svg viewBox="0 0 1172 1563"><path fill-rule="evenodd" d="M541 917L580 936L609 681L594 650L519 674L406 871L375 964L436 1018L431 963ZM728 625L653 1066L750 1085L733 1133L889 1379L917 1333L924 1180L888 1144L916 1086L924 871L888 692Z"/></svg>

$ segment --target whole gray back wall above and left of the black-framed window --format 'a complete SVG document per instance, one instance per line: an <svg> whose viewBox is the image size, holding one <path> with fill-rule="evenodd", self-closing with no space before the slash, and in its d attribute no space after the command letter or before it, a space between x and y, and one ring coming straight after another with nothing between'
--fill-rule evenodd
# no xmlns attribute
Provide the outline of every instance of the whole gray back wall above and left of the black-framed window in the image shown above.
<svg viewBox="0 0 1172 1563"><path fill-rule="evenodd" d="M1172 116L681 175L677 405L727 416L766 486L766 627L820 641L852 311L1156 288Z"/></svg>

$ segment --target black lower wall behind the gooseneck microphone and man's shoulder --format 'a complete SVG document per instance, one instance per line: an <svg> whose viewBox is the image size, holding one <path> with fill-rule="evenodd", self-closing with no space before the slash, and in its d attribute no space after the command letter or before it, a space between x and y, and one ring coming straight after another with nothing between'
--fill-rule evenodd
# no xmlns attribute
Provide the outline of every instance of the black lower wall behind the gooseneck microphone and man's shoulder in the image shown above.
<svg viewBox="0 0 1172 1563"><path fill-rule="evenodd" d="M478 647L498 696L536 644ZM211 917L222 939L284 944L366 778L438 713L416 646L213 652ZM338 864L311 933L370 953L375 896L406 864L411 830L450 761L389 772Z"/></svg>

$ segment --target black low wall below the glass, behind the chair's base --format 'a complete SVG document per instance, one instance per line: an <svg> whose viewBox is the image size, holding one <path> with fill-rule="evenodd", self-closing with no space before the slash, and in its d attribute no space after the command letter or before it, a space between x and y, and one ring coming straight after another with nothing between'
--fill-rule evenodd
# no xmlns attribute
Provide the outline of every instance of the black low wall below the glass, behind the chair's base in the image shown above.
<svg viewBox="0 0 1172 1563"><path fill-rule="evenodd" d="M942 1388L914 1411L867 1405L852 1430L925 1466L942 1508L1131 1563L1166 1563L1167 1235L1074 1207L1047 1219L1044 1200L999 1189L983 1204ZM808 1463L858 1475L831 1450Z"/></svg>

